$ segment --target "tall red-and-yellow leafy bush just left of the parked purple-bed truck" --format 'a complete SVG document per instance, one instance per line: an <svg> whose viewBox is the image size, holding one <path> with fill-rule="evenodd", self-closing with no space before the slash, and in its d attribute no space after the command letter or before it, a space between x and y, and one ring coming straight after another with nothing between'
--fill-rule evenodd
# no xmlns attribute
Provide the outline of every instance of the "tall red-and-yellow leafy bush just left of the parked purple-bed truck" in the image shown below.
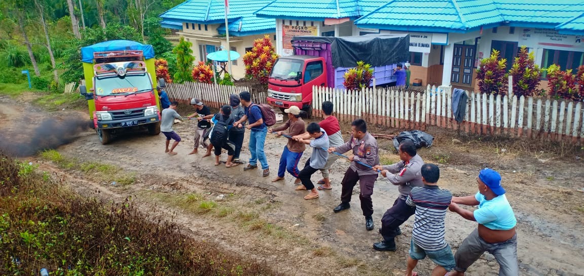
<svg viewBox="0 0 584 276"><path fill-rule="evenodd" d="M266 34L263 39L254 40L252 50L245 53L243 58L245 77L258 80L261 84L267 84L272 67L278 57L270 36Z"/></svg>

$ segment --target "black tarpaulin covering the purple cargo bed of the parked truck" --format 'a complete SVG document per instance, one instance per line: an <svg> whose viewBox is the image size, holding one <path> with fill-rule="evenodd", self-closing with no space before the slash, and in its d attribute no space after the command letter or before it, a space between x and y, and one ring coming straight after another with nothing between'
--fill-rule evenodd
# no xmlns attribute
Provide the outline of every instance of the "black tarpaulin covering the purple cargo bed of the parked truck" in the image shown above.
<svg viewBox="0 0 584 276"><path fill-rule="evenodd" d="M333 67L355 67L363 60L371 66L409 60L409 34L366 34L364 36L296 36L293 42L330 43Z"/></svg>

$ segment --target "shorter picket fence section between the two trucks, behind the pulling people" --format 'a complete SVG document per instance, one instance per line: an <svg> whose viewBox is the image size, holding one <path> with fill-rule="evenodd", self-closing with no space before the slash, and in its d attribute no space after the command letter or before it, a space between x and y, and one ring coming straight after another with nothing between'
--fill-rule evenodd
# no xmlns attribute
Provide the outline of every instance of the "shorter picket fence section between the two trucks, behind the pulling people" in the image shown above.
<svg viewBox="0 0 584 276"><path fill-rule="evenodd" d="M166 84L165 91L168 98L183 104L190 104L192 98L197 98L211 108L221 108L229 104L231 94L239 95L239 92L250 91L248 87L232 85L203 84L200 82L185 82L182 84ZM254 92L252 102L265 103L266 92Z"/></svg>

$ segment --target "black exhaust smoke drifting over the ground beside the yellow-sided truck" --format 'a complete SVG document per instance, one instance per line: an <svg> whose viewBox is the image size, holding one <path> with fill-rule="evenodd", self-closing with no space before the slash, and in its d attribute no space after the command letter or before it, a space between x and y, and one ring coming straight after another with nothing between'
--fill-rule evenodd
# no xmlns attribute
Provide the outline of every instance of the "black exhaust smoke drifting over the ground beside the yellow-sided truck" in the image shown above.
<svg viewBox="0 0 584 276"><path fill-rule="evenodd" d="M22 122L21 126L30 126ZM13 157L32 156L41 150L56 149L58 146L73 142L80 133L92 125L87 119L55 118L44 119L40 125L26 129L2 130L0 133L0 151Z"/></svg>

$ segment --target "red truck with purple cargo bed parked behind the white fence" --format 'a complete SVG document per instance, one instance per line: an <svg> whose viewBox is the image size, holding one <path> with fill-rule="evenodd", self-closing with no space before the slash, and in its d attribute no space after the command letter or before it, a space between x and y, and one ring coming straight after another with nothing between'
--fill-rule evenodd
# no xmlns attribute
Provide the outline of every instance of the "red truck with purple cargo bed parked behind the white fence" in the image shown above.
<svg viewBox="0 0 584 276"><path fill-rule="evenodd" d="M292 39L294 56L279 57L267 84L267 102L282 111L290 106L312 116L312 87L343 89L343 75L363 60L374 67L378 85L395 82L397 63L409 60L409 35L320 37Z"/></svg>

